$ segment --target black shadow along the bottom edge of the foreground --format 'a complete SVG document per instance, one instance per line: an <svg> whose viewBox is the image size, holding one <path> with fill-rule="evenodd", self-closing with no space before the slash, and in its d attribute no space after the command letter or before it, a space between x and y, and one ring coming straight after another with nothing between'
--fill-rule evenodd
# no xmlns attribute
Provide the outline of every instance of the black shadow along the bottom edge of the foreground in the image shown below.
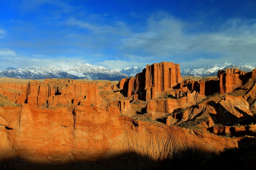
<svg viewBox="0 0 256 170"><path fill-rule="evenodd" d="M256 165L255 151L256 139L245 138L239 141L239 149L227 149L220 155L187 149L163 161L136 153L103 158L93 163L32 163L13 158L1 160L0 169L253 169Z"/></svg>

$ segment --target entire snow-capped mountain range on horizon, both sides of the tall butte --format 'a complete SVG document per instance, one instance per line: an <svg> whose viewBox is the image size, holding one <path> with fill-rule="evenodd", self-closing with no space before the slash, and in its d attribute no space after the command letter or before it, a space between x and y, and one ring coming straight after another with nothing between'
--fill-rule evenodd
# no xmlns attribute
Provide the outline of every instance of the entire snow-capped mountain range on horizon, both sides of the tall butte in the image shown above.
<svg viewBox="0 0 256 170"><path fill-rule="evenodd" d="M219 70L226 68L238 68L245 72L252 71L255 67L250 65L222 65L222 66L206 66L204 68L181 70L182 76L216 76ZM91 80L121 80L122 78L135 76L142 72L143 68L126 67L123 70L111 70L103 66L95 66L91 64L76 64L75 66L45 66L45 67L22 67L22 68L6 68L0 71L1 77L22 78L22 79L46 79L46 78L71 78L71 79L91 79Z"/></svg>

